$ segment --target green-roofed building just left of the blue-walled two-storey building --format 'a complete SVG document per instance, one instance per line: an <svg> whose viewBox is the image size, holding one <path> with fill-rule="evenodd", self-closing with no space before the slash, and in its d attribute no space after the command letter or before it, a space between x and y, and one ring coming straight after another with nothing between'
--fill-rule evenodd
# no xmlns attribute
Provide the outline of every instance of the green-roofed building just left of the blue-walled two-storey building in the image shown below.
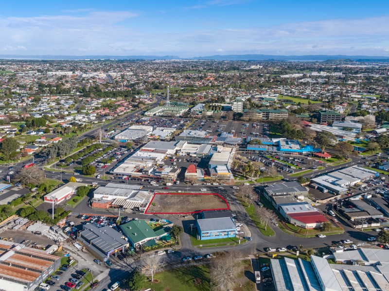
<svg viewBox="0 0 389 291"><path fill-rule="evenodd" d="M132 246L138 246L151 240L159 240L159 238L167 235L170 231L170 227L163 227L155 230L144 220L130 221L121 225L120 228Z"/></svg>

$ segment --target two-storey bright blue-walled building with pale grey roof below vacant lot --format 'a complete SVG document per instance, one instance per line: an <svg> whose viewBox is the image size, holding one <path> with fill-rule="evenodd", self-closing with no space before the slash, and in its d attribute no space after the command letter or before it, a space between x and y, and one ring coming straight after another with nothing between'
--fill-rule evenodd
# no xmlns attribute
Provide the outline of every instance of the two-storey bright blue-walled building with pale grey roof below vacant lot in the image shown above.
<svg viewBox="0 0 389 291"><path fill-rule="evenodd" d="M236 236L236 225L232 217L197 219L197 239L212 240Z"/></svg>

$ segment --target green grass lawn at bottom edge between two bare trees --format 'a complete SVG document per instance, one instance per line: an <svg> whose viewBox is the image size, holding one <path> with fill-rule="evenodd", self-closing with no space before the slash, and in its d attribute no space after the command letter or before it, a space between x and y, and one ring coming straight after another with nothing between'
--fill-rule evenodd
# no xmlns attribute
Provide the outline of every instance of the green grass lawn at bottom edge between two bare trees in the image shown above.
<svg viewBox="0 0 389 291"><path fill-rule="evenodd" d="M154 291L209 291L210 277L207 265L188 266L156 274L158 283L146 282L145 288Z"/></svg>

